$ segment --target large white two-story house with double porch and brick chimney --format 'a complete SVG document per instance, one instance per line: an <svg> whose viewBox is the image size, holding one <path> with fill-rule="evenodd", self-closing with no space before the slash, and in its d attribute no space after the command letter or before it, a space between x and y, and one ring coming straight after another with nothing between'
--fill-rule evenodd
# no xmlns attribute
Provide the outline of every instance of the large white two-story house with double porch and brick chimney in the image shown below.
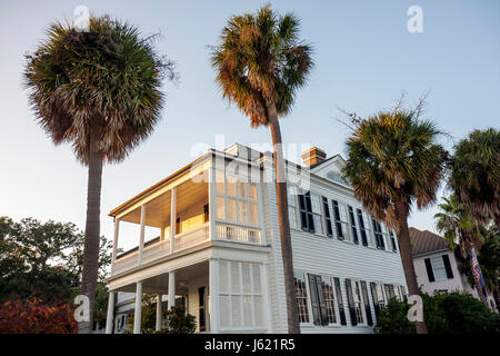
<svg viewBox="0 0 500 356"><path fill-rule="evenodd" d="M287 161L301 330L372 333L388 299L406 298L397 237L356 200L340 156L312 148L302 158L302 166ZM158 312L182 304L197 332L288 332L272 165L270 152L239 144L210 149L110 212L107 283L118 297L110 293L108 333L123 329L143 293L158 295ZM132 224L138 247L117 256L120 231Z"/></svg>

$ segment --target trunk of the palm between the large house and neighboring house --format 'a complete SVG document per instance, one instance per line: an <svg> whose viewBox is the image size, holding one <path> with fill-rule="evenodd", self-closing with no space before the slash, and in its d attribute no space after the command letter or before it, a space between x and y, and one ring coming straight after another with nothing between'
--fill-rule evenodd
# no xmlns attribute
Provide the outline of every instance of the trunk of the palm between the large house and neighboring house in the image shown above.
<svg viewBox="0 0 500 356"><path fill-rule="evenodd" d="M408 215L409 210L404 202L397 202L396 216L398 219L398 243L404 270L404 278L407 279L408 293L410 295L420 295L417 275L414 273L413 256L411 254L410 231L408 230ZM421 322L417 322L416 326L417 334L428 334L424 319L422 319Z"/></svg>

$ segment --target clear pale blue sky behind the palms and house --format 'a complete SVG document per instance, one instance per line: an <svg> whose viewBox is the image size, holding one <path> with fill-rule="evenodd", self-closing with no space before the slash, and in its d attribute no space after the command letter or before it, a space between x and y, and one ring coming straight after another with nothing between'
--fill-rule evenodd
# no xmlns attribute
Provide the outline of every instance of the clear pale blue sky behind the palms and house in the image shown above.
<svg viewBox="0 0 500 356"><path fill-rule="evenodd" d="M106 166L101 233L112 237L108 212L181 166L198 142L269 142L270 132L221 99L210 49L231 14L267 1L10 1L0 2L0 216L73 221L84 228L87 169L68 145L56 147L34 122L22 88L23 55L33 51L53 20L72 19L77 6L127 19L144 34L162 33L161 53L178 63L180 81L166 83L163 120L120 165ZM316 68L282 120L284 144L344 155L349 131L338 107L369 116L391 108L402 91L414 103L430 90L426 118L454 140L474 128L499 127L500 1L270 1L301 18ZM410 6L423 10L423 32L407 29ZM447 148L452 139L442 139ZM440 195L442 191L440 191ZM436 207L410 225L434 229ZM126 244L131 246L137 240Z"/></svg>

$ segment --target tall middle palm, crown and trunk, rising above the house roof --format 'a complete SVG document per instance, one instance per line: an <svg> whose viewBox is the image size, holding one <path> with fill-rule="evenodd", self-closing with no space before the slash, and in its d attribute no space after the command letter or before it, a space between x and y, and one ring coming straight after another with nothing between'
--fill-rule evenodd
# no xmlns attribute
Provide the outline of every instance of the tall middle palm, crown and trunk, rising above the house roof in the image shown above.
<svg viewBox="0 0 500 356"><path fill-rule="evenodd" d="M306 83L312 68L312 50L299 41L299 19L291 13L280 16L269 6L254 14L231 17L220 39L221 43L212 49L211 63L223 98L236 102L252 127L271 129L288 329L300 333L278 119L290 112L297 89Z"/></svg>

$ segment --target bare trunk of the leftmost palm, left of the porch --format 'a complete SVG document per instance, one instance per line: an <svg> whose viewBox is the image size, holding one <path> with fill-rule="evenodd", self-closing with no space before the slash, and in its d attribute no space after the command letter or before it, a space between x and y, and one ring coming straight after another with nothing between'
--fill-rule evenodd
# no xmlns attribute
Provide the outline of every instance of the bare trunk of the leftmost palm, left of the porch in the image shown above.
<svg viewBox="0 0 500 356"><path fill-rule="evenodd" d="M89 298L90 320L78 324L79 334L90 334L93 325L93 310L98 279L100 204L102 178L102 152L98 149L98 132L90 132L89 178L87 188L87 222L83 248L83 271L81 294Z"/></svg>

